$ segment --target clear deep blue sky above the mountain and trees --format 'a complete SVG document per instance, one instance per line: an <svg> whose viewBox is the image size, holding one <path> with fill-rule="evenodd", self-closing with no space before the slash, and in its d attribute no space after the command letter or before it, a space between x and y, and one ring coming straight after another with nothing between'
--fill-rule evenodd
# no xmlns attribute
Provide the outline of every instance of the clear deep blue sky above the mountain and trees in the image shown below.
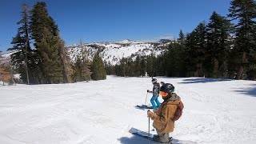
<svg viewBox="0 0 256 144"><path fill-rule="evenodd" d="M66 46L83 42L131 39L157 41L190 33L209 21L215 10L226 16L231 0L44 0L58 24ZM6 51L18 30L22 3L36 0L1 0L0 50ZM41 1L42 2L42 1Z"/></svg>

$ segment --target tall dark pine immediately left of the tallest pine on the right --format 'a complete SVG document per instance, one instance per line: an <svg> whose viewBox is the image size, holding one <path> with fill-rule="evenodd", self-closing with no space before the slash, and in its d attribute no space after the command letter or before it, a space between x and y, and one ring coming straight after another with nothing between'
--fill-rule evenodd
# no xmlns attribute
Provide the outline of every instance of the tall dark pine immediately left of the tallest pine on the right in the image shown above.
<svg viewBox="0 0 256 144"><path fill-rule="evenodd" d="M215 11L207 25L206 71L213 78L226 77L230 50L230 21Z"/></svg>

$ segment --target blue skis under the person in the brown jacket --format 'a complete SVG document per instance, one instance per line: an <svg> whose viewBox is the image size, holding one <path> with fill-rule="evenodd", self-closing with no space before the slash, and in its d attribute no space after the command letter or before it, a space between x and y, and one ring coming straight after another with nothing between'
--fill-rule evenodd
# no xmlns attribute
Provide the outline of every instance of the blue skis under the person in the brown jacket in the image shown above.
<svg viewBox="0 0 256 144"><path fill-rule="evenodd" d="M155 143L155 144L158 144L158 143L162 143L162 142L156 142L154 141L154 134L150 134L150 133L147 133L145 131L142 131L142 130L138 130L134 127L130 128L129 130L130 134L134 134L138 137L141 137L141 138L146 138L148 140L150 140L150 143ZM172 137L170 137L170 144L196 144L196 142L192 142L192 141L185 141L185 140L178 140L178 139L174 139ZM146 142L146 141L145 141Z"/></svg>

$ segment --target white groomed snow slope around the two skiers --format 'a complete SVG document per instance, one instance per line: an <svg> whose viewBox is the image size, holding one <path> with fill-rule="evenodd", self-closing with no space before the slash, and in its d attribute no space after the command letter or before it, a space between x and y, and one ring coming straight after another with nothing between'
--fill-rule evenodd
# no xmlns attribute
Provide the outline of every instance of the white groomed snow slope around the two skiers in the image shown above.
<svg viewBox="0 0 256 144"><path fill-rule="evenodd" d="M173 83L185 105L170 134L174 138L256 142L256 82L162 77L158 81ZM151 88L151 78L114 76L97 82L0 86L0 143L148 143L128 130L148 130L146 110L134 106L144 104Z"/></svg>

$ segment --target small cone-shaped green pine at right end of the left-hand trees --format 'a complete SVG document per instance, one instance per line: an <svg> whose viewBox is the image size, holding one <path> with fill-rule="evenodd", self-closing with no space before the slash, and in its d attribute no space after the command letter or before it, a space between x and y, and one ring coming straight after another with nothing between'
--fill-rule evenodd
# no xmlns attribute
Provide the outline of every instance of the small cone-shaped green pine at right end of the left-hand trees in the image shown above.
<svg viewBox="0 0 256 144"><path fill-rule="evenodd" d="M99 51L94 55L91 72L91 78L95 81L106 79L106 70L102 58L99 56Z"/></svg>

